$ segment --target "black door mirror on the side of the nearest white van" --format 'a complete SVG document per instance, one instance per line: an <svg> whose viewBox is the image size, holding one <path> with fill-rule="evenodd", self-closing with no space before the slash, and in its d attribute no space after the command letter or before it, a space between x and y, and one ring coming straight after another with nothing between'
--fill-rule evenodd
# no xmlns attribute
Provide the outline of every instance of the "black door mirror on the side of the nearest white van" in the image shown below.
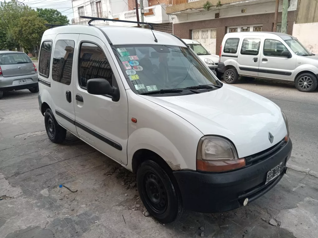
<svg viewBox="0 0 318 238"><path fill-rule="evenodd" d="M112 75L112 81L116 82L114 74ZM110 83L103 78L92 78L87 80L87 92L94 95L109 95L113 101L119 101L119 89L112 87Z"/></svg>

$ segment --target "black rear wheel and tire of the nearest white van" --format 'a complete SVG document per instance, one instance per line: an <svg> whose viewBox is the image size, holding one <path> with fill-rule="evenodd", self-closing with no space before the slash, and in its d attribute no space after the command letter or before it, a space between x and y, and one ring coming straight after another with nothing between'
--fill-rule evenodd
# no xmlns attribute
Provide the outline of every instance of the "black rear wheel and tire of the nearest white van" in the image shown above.
<svg viewBox="0 0 318 238"><path fill-rule="evenodd" d="M56 121L51 109L46 109L44 114L46 134L54 143L62 143L66 137L66 129L61 127Z"/></svg>

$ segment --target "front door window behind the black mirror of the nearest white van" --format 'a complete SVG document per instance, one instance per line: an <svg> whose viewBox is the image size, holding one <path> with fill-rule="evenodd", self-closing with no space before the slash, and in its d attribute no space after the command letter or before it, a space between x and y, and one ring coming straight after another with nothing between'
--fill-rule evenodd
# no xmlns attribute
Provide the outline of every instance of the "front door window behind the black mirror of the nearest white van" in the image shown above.
<svg viewBox="0 0 318 238"><path fill-rule="evenodd" d="M104 78L112 85L113 70L103 50L93 43L82 43L79 54L79 85L86 88L87 80Z"/></svg>

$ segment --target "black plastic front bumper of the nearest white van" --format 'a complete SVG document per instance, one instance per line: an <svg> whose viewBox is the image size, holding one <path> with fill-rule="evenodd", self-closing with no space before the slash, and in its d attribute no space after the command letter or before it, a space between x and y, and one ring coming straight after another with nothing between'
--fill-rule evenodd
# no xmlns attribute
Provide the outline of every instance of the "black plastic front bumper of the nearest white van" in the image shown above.
<svg viewBox="0 0 318 238"><path fill-rule="evenodd" d="M243 206L245 198L248 198L249 202L259 198L283 177L292 147L292 142L289 140L259 161L229 172L208 173L194 170L173 172L185 208L203 213L225 212ZM281 174L265 185L267 172L280 162L283 162Z"/></svg>

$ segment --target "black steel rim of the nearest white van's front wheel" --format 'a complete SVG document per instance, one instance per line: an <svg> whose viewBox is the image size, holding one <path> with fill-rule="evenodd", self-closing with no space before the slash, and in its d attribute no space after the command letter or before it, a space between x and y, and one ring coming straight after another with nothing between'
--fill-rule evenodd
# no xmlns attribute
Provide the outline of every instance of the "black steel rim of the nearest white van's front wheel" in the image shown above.
<svg viewBox="0 0 318 238"><path fill-rule="evenodd" d="M168 206L168 199L162 180L154 172L149 171L144 176L143 184L148 205L156 213L164 213Z"/></svg>

